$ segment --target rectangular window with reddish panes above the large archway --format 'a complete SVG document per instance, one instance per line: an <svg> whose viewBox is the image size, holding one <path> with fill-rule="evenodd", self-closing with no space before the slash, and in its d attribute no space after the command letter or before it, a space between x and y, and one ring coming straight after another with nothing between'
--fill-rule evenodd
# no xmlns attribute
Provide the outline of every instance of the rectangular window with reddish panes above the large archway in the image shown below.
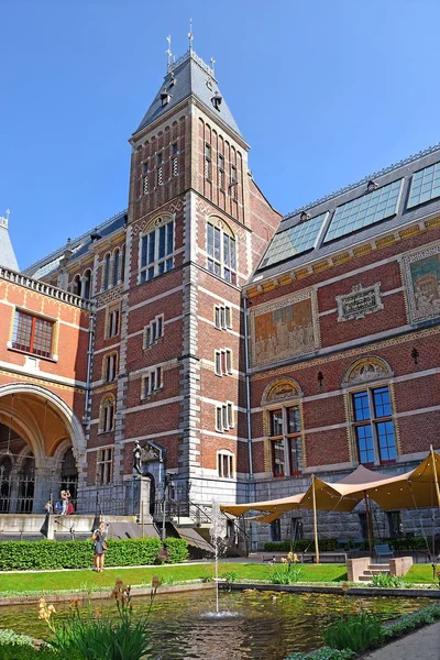
<svg viewBox="0 0 440 660"><path fill-rule="evenodd" d="M41 358L51 358L54 322L15 311L12 348Z"/></svg>

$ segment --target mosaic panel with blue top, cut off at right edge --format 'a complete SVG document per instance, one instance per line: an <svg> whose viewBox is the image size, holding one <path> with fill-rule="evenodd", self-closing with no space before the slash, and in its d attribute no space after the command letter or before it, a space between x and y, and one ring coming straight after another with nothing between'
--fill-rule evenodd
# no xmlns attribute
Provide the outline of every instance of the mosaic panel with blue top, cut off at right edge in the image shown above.
<svg viewBox="0 0 440 660"><path fill-rule="evenodd" d="M411 322L440 317L440 245L403 258Z"/></svg>

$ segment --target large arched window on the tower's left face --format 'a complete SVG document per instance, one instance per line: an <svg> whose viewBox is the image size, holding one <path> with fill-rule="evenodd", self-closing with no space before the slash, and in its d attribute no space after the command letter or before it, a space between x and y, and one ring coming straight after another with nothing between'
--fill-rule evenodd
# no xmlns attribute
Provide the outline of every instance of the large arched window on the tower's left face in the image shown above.
<svg viewBox="0 0 440 660"><path fill-rule="evenodd" d="M141 283L170 271L173 252L174 220L160 218L155 229L141 237Z"/></svg>

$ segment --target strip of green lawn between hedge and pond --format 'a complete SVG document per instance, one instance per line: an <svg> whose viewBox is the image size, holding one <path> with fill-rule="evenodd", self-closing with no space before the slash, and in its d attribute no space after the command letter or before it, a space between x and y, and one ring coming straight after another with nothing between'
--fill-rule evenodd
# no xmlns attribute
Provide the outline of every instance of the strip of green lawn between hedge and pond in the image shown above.
<svg viewBox="0 0 440 660"><path fill-rule="evenodd" d="M301 582L341 582L346 580L345 564L306 564L301 566ZM235 573L235 581L267 581L271 568L266 564L255 563L223 563L220 565L219 574ZM212 563L207 564L175 564L167 566L151 566L141 569L106 569L103 573L85 571L61 571L41 573L3 573L0 576L1 595L12 595L10 592L41 592L45 591L87 591L88 588L113 586L117 578L121 578L127 584L150 585L153 575L158 575L164 584L169 582L183 582L186 580L198 580L212 575L215 568ZM429 564L416 564L405 576L405 582L432 583L432 568ZM437 581L436 581L437 582ZM6 593L8 592L8 594Z"/></svg>

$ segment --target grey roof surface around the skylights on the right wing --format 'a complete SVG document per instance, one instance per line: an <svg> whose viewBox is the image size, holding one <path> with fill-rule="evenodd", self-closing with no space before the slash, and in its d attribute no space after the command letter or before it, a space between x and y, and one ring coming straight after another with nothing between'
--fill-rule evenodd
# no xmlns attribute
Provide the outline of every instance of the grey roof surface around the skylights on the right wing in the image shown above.
<svg viewBox="0 0 440 660"><path fill-rule="evenodd" d="M265 255L261 260L260 265L252 277L252 282L256 283L262 280L263 278L265 279L268 277L274 277L292 268L297 268L311 262L320 261L329 256L330 254L333 254L334 252L346 250L353 246L354 244L371 240L376 235L383 234L387 231L393 231L394 229L414 222L415 220L421 219L428 215L440 215L440 197L426 201L425 204L407 208L413 174L436 163L440 163L440 144L431 146L413 156L409 156L408 158L405 158L404 161L400 161L395 165L392 165L375 174L366 176L362 180L352 184L346 188L332 193L331 195L318 199L309 206L304 206L288 213L282 219L279 227L271 241L271 244L277 234L292 227L296 227L297 224L299 224L300 213L302 211L310 213L311 219L316 218L321 213L327 213L327 216L324 216L320 237L317 241L316 246L311 250L308 250L307 252L293 255L289 258L286 258L284 262L278 262L276 264L264 267L264 260L271 249L270 244ZM370 224L358 231L353 231L352 233L342 235L327 243L324 242L326 233L333 219L336 209L349 201L352 201L365 195L366 185L369 180L373 180L375 184L377 184L378 187L383 187L388 184L392 184L393 182L398 182L399 179L404 179L404 184L397 207L397 212L394 216L375 222L374 224Z"/></svg>

